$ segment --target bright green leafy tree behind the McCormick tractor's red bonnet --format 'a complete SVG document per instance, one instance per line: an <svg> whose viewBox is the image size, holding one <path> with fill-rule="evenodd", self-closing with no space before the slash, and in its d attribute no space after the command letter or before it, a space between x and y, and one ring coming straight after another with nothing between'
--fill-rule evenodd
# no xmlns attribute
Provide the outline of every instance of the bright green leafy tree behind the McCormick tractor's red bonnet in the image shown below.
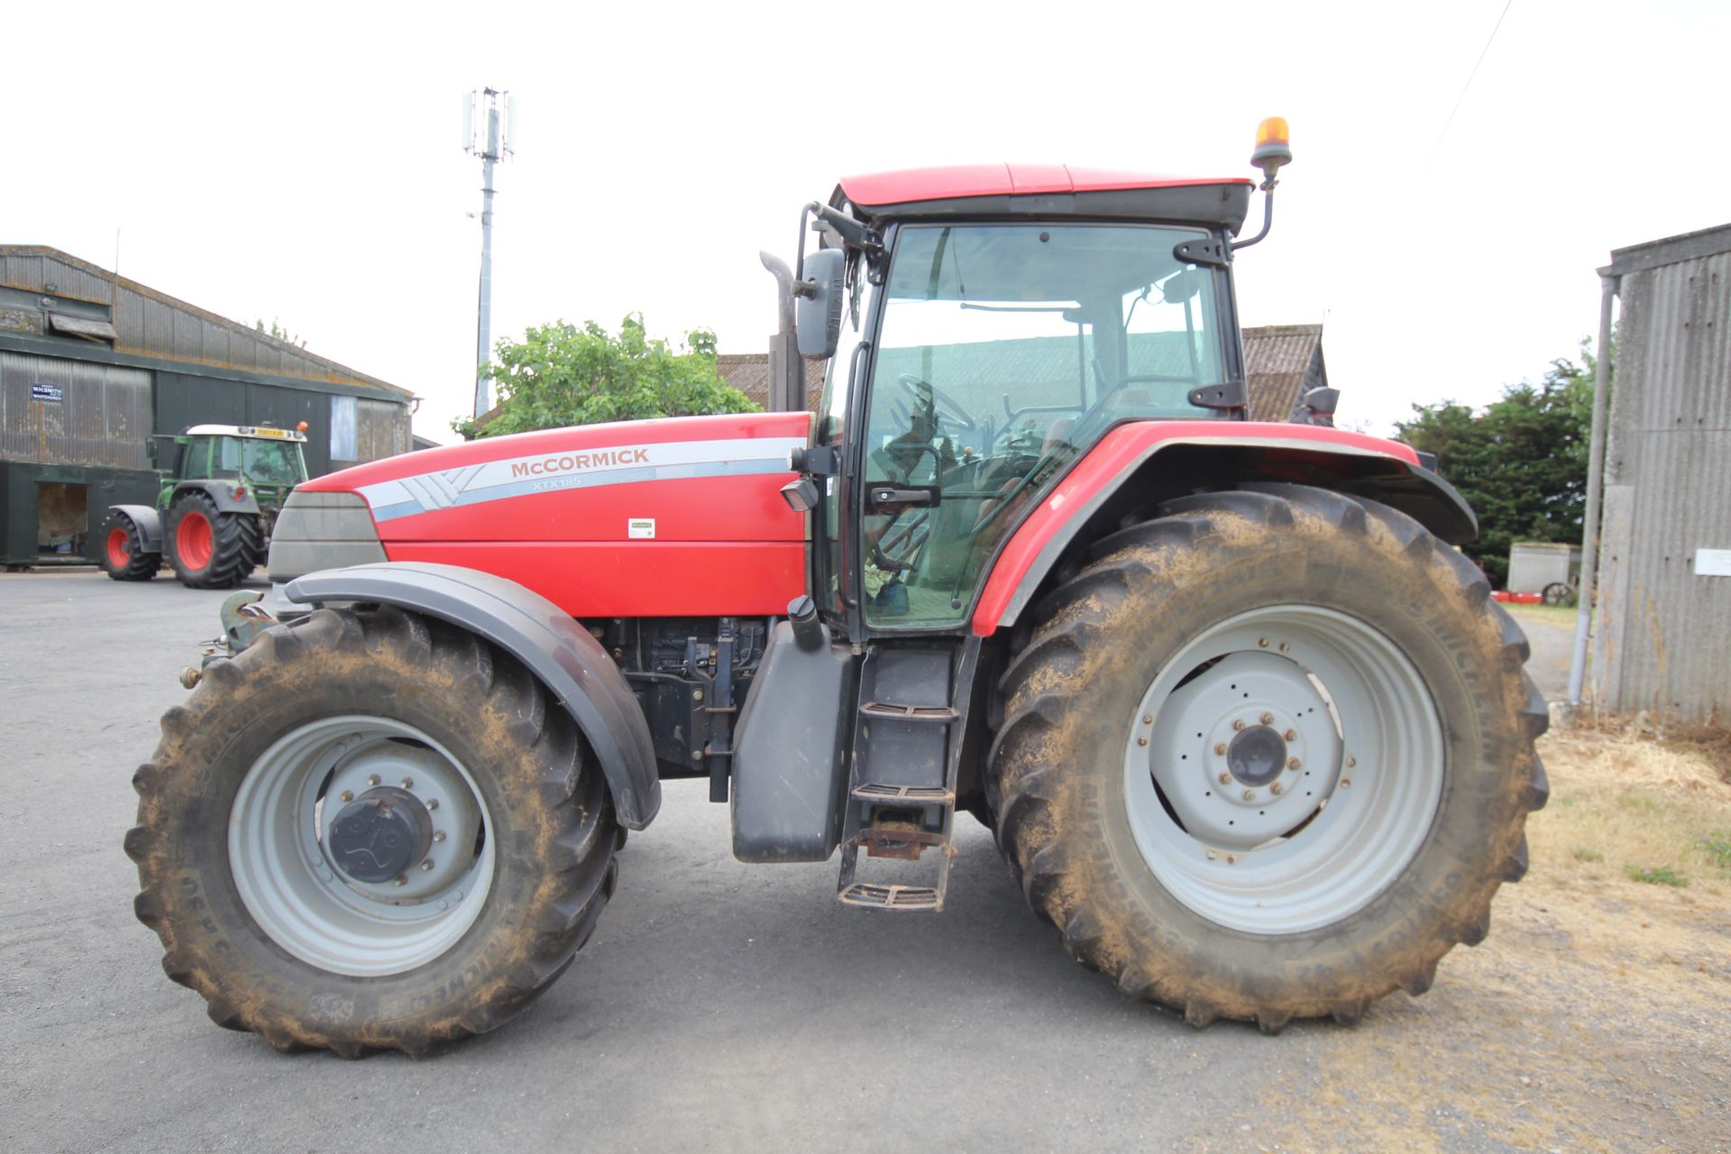
<svg viewBox="0 0 1731 1154"><path fill-rule="evenodd" d="M500 341L493 356L499 410L483 426L452 422L464 438L756 410L722 381L713 332L698 329L685 336L685 348L673 349L646 334L640 313L627 317L618 336L592 320L537 325L521 341Z"/></svg>

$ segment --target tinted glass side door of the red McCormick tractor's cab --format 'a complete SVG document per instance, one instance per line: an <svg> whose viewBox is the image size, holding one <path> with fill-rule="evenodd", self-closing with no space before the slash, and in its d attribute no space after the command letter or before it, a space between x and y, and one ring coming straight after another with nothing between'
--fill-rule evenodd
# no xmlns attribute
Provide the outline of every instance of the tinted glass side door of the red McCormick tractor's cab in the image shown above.
<svg viewBox="0 0 1731 1154"><path fill-rule="evenodd" d="M1222 415L1189 403L1191 389L1226 379L1215 275L1172 256L1198 235L1123 225L902 230L866 433L872 625L961 621L1021 509L1115 422ZM931 491L905 493L921 488Z"/></svg>

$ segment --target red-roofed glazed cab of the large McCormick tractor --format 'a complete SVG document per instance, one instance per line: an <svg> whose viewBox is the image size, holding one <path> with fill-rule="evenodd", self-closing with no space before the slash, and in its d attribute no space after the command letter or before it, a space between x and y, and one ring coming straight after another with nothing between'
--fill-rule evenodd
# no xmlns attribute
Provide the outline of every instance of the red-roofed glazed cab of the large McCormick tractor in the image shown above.
<svg viewBox="0 0 1731 1154"><path fill-rule="evenodd" d="M1115 426L1245 417L1227 254L1250 192L980 166L846 178L808 209L826 618L962 628L999 545Z"/></svg>

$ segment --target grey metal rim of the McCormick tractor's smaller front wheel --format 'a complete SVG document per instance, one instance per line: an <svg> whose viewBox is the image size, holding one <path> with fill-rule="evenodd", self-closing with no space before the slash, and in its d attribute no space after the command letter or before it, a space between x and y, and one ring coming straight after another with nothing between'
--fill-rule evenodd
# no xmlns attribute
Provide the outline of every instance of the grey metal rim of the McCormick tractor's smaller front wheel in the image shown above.
<svg viewBox="0 0 1731 1154"><path fill-rule="evenodd" d="M436 841L400 877L367 884L344 875L325 843L344 794L381 784L431 810ZM246 772L228 820L228 867L260 929L296 958L357 978L450 950L485 907L495 856L469 770L419 728L377 716L280 737Z"/></svg>

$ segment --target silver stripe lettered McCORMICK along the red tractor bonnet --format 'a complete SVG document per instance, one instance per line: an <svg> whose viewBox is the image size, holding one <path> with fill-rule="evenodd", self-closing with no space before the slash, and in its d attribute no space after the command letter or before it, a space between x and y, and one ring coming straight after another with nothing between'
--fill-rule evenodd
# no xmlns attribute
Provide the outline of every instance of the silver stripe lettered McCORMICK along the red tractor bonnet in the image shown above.
<svg viewBox="0 0 1731 1154"><path fill-rule="evenodd" d="M805 438L730 438L559 450L379 481L358 491L372 507L374 521L395 521L438 509L601 484L788 472L788 452L803 445Z"/></svg>

